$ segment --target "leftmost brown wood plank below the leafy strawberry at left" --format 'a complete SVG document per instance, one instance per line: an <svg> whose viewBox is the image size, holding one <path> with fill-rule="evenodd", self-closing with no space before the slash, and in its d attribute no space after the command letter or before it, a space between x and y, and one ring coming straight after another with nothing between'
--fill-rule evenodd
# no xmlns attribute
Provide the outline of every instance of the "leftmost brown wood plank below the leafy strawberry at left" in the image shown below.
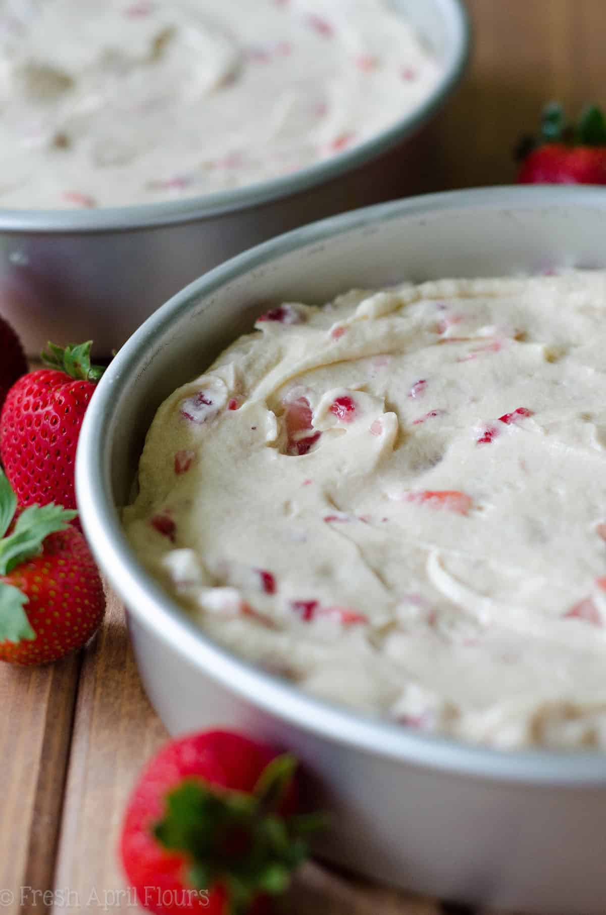
<svg viewBox="0 0 606 915"><path fill-rule="evenodd" d="M38 668L0 664L0 906L8 913L47 910L41 894L53 886L79 670L78 654Z"/></svg>

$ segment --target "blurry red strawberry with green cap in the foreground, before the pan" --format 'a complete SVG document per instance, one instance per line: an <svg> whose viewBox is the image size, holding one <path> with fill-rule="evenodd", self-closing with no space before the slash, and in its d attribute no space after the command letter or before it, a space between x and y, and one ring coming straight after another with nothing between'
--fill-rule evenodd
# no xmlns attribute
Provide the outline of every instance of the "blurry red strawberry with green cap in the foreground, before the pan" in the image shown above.
<svg viewBox="0 0 606 915"><path fill-rule="evenodd" d="M120 851L139 902L158 915L261 915L307 856L319 817L295 815L297 761L248 737L208 731L148 763Z"/></svg>

